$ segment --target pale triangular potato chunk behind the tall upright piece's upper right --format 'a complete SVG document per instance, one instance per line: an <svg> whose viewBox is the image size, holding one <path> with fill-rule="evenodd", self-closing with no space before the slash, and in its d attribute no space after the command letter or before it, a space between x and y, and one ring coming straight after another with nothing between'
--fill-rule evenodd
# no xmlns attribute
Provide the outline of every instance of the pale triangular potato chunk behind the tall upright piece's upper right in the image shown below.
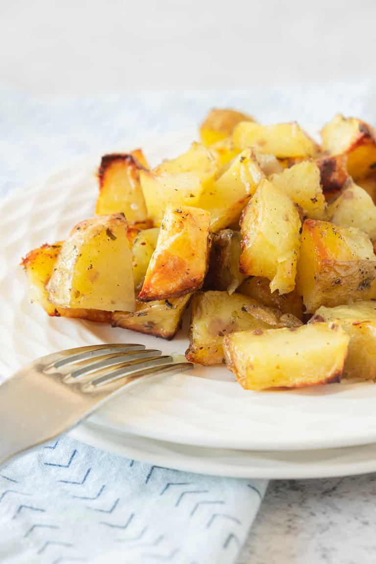
<svg viewBox="0 0 376 564"><path fill-rule="evenodd" d="M314 162L303 161L273 174L269 181L284 191L312 219L325 219L326 201L320 185L320 170Z"/></svg>

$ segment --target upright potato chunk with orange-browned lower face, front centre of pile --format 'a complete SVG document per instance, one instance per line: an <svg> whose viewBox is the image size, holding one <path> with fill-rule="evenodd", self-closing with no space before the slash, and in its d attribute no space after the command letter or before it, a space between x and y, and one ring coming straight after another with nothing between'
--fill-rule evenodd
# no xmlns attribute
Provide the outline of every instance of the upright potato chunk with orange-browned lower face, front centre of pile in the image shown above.
<svg viewBox="0 0 376 564"><path fill-rule="evenodd" d="M209 222L205 210L167 206L138 297L141 302L177 298L202 287L209 261Z"/></svg>

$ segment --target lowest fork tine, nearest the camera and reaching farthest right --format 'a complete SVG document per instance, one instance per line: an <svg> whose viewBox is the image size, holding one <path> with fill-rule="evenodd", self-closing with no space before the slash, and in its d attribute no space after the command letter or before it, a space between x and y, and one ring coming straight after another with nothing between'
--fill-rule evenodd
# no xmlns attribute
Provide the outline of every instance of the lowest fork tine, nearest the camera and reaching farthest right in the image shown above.
<svg viewBox="0 0 376 564"><path fill-rule="evenodd" d="M171 357L169 357L171 358ZM163 359L163 356L158 358L157 360ZM185 372L188 370L192 370L194 365L192 362L179 362L179 363L165 363L165 364L148 364L144 363L145 366L141 367L141 364L138 368L134 367L133 370L129 371L126 368L122 370L121 368L116 371L115 374L104 374L99 378L95 378L91 382L88 382L84 387L84 391L94 391L98 389L98 387L104 385L112 385L111 388L113 389L121 389L127 382L136 381L143 376L152 376L152 374L165 374L167 372ZM125 381L122 381L122 378L126 377Z"/></svg>

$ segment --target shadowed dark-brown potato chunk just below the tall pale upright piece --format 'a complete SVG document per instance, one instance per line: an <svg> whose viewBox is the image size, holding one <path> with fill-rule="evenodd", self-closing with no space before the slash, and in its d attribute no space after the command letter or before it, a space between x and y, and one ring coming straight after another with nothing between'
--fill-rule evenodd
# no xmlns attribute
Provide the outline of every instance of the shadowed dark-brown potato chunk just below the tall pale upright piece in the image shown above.
<svg viewBox="0 0 376 564"><path fill-rule="evenodd" d="M277 307L282 314L292 314L298 319L303 318L303 299L296 288L288 294L270 291L270 281L262 276L249 276L238 287L238 292L256 299L265 306Z"/></svg>

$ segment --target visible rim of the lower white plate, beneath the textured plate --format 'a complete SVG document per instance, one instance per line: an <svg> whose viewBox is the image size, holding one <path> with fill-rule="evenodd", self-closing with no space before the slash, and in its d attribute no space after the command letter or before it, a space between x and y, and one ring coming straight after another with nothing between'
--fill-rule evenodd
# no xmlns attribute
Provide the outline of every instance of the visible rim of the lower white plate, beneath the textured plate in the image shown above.
<svg viewBox="0 0 376 564"><path fill-rule="evenodd" d="M331 478L376 470L376 444L311 451L229 450L169 443L104 430L89 421L72 429L70 436L149 464L232 478Z"/></svg>

